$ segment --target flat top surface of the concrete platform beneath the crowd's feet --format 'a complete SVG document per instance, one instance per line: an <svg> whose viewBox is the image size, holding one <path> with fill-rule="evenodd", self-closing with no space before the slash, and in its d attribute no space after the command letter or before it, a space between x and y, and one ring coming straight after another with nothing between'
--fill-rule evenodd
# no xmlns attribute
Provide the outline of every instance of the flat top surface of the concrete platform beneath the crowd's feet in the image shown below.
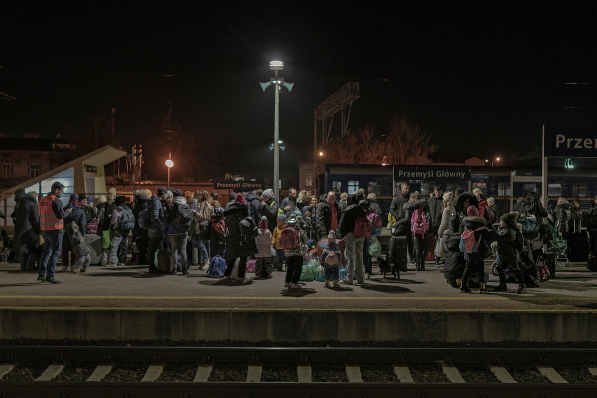
<svg viewBox="0 0 597 398"><path fill-rule="evenodd" d="M486 270L490 273L490 262ZM377 267L374 266L374 271ZM556 277L527 294L461 294L444 279L441 268L402 273L401 279L374 274L362 285L325 288L323 282L301 282L284 288L285 272L270 279L247 274L244 282L215 279L193 267L188 275L149 275L147 266L91 266L86 273L57 272L62 283L36 281L36 272L19 264L0 263L0 308L135 308L135 309L367 309L367 310L597 310L597 273L584 264L558 269ZM497 277L490 273L490 286Z"/></svg>

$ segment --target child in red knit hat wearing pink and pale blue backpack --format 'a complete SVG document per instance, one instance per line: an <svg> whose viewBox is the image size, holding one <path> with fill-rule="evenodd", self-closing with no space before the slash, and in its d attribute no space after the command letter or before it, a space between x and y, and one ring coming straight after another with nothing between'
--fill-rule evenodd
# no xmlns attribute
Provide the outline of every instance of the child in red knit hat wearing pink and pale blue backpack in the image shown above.
<svg viewBox="0 0 597 398"><path fill-rule="evenodd" d="M464 272L462 274L462 282L460 283L461 293L470 293L467 286L469 274L476 272L479 278L479 293L487 293L485 287L485 266L484 260L487 254L487 245L490 242L490 230L485 227L487 220L484 217L479 217L479 209L475 206L466 208L467 217L463 218L464 231L473 234L475 242L477 243L476 252L464 252Z"/></svg>

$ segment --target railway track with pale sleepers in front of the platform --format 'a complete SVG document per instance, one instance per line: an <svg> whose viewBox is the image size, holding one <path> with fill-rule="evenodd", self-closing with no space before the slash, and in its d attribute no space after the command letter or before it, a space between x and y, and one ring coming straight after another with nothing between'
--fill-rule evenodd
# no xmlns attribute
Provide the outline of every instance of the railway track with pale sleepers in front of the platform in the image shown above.
<svg viewBox="0 0 597 398"><path fill-rule="evenodd" d="M0 398L596 397L597 350L0 347Z"/></svg>

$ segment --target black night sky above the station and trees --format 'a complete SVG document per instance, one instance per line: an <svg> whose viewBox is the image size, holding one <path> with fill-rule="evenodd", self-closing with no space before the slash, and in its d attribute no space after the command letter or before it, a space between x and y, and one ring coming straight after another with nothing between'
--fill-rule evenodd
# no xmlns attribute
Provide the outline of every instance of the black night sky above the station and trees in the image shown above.
<svg viewBox="0 0 597 398"><path fill-rule="evenodd" d="M350 128L384 134L404 110L440 150L482 158L540 146L541 124L597 125L594 1L84 3L0 5L0 91L17 98L0 102L0 131L50 137L115 107L130 147L172 101L197 140L236 144L224 158L269 164L273 90L258 82L272 59L295 83L283 167L308 160L313 109L348 81L362 94Z"/></svg>

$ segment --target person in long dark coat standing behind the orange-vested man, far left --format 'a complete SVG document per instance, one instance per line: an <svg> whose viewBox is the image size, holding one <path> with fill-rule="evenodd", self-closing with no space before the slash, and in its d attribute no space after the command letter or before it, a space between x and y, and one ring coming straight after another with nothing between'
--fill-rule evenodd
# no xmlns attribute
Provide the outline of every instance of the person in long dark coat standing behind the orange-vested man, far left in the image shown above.
<svg viewBox="0 0 597 398"><path fill-rule="evenodd" d="M21 271L35 270L35 258L41 238L38 203L31 195L21 196L15 210L14 248L19 250Z"/></svg>

